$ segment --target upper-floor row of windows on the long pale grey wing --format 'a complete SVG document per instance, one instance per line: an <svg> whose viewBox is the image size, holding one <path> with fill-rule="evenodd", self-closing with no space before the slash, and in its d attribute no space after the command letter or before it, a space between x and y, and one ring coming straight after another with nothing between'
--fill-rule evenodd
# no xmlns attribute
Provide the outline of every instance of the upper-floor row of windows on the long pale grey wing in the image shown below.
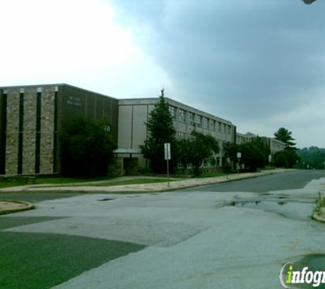
<svg viewBox="0 0 325 289"><path fill-rule="evenodd" d="M170 105L169 111L172 117L176 119L176 108ZM208 119L204 116L199 116L198 114L186 112L185 110L181 109L179 109L180 123L186 123L186 114L187 122L190 125L195 125L196 127L203 127L204 129L221 131L222 133L231 134L231 125L226 125L224 123L220 123L219 121L214 121L213 119Z"/></svg>

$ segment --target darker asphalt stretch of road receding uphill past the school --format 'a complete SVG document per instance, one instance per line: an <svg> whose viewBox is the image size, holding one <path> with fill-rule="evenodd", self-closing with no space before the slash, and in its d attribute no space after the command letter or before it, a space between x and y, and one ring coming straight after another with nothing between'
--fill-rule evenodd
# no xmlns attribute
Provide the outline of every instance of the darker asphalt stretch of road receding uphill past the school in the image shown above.
<svg viewBox="0 0 325 289"><path fill-rule="evenodd" d="M206 192L269 192L273 190L293 190L304 188L312 179L325 177L325 171L290 171L252 177L238 181L229 181L213 186L203 186L187 189L185 191L206 191Z"/></svg>

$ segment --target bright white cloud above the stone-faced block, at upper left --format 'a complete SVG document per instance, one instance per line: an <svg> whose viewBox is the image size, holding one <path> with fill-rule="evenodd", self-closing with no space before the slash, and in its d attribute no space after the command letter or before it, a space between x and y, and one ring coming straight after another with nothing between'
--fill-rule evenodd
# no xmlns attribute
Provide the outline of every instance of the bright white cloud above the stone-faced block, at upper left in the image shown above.
<svg viewBox="0 0 325 289"><path fill-rule="evenodd" d="M114 97L172 89L103 0L0 0L2 86L68 83Z"/></svg>

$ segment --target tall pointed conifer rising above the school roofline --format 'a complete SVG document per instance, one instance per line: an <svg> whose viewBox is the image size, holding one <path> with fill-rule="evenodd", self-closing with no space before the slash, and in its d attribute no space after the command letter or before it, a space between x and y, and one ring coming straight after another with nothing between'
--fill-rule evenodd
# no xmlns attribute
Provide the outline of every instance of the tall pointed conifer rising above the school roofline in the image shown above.
<svg viewBox="0 0 325 289"><path fill-rule="evenodd" d="M140 146L144 158L150 160L150 167L154 173L166 173L166 161L164 160L164 143L170 143L172 160L170 160L170 171L174 171L177 164L176 151L177 140L174 121L170 114L169 105L164 97L164 89L161 90L159 101L150 112L148 122L148 138L144 145Z"/></svg>

